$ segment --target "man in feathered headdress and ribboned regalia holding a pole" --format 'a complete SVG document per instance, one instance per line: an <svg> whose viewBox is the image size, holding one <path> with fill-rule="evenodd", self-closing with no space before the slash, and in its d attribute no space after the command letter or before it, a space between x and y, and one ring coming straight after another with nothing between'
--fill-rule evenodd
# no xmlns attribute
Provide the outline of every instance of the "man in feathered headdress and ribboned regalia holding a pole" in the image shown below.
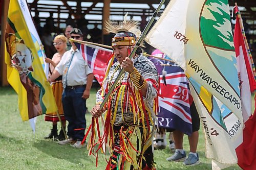
<svg viewBox="0 0 256 170"><path fill-rule="evenodd" d="M109 20L106 23L106 30L116 34L112 39L112 47L118 62L106 74L102 88L97 92L96 106L91 111L93 117L98 118L106 109L104 135L99 139L108 142L111 148L111 158L106 169L155 169L152 148L155 126L151 125L155 124L156 119L159 79L154 64L136 46L140 36L137 26L136 21L125 19L124 22L114 23ZM132 48L138 49L129 59ZM121 68L125 71L108 102L100 110ZM91 136L89 148L93 147L90 143L93 140Z"/></svg>

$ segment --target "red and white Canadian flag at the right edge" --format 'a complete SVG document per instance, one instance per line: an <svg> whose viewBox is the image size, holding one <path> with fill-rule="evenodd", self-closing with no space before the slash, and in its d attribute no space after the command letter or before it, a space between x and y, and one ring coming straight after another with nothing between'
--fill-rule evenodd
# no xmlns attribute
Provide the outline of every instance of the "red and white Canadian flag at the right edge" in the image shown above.
<svg viewBox="0 0 256 170"><path fill-rule="evenodd" d="M238 7L234 28L234 48L236 51L243 115L243 142L237 147L238 165L243 169L256 169L256 115L255 93L256 83L253 74L253 61L245 37L243 23Z"/></svg>

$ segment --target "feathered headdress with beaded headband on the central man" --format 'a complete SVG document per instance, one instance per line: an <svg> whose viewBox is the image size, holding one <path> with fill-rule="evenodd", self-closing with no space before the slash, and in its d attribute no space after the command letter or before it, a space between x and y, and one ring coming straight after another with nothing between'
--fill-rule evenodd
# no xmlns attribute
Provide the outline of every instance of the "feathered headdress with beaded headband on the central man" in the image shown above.
<svg viewBox="0 0 256 170"><path fill-rule="evenodd" d="M124 45L124 46L134 46L141 35L138 29L138 22L134 20L126 20L127 14L125 14L123 21L113 21L108 20L105 23L105 30L108 33L116 34L112 38L112 46ZM141 43L144 47L143 43Z"/></svg>

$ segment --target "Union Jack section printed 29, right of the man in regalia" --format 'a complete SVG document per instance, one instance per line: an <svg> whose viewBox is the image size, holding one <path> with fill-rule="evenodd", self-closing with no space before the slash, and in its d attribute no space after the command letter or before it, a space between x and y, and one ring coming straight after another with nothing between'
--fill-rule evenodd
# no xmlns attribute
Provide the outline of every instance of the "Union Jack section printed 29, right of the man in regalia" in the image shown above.
<svg viewBox="0 0 256 170"><path fill-rule="evenodd" d="M158 126L165 129L180 130L190 135L192 121L190 114L191 94L184 70L177 64L150 59L160 75ZM169 64L170 66L162 66ZM164 81L165 79L165 81Z"/></svg>

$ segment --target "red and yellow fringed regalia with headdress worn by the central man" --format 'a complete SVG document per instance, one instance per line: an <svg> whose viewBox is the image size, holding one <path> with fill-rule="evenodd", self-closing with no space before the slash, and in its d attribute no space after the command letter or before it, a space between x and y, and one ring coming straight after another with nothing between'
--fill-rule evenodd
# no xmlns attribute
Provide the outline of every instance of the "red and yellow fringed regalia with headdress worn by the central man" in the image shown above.
<svg viewBox="0 0 256 170"><path fill-rule="evenodd" d="M129 43L127 46L135 45L135 41L132 40L136 40L138 35L134 36L134 39L130 35L136 32L137 22L126 21L113 26L109 21L108 25L109 27L107 28L111 26L112 33L117 33L112 39L112 46L126 45L127 43ZM129 26L129 29L125 29L127 28L125 26ZM113 31L113 28L117 31ZM120 28L122 29L121 34L118 32ZM120 35L128 35L128 38L123 38ZM117 39L118 41L115 42ZM130 51L127 53L130 54ZM106 108L104 119L101 117L103 133L100 132L98 119L92 117L92 124L84 137L85 140L89 132L91 132L87 147L89 155L96 156L96 166L98 164L98 151L101 150L101 152L105 153L106 150L109 150L111 157L105 169L155 169L152 141L156 132L154 125L158 109L159 79L157 70L152 62L143 55L137 55L137 58L134 61L136 71L130 75L128 72L123 73L104 106ZM118 62L113 64L113 60L114 55L110 61L102 87L98 91L98 95L100 94L99 96L101 96L102 100L106 93L109 92L115 76L121 69ZM140 76L140 74L142 76L144 75L143 72L147 71L145 66L140 67L142 63L145 63L146 67L150 67L147 69L153 72L150 72L145 77L143 76L145 79L143 79L144 84L147 82L147 87L154 91L154 94L152 94L154 97L150 102L146 101L145 97L142 96L140 87L137 84L138 81L135 80L136 74L137 76ZM135 75L135 79L131 78L132 74ZM155 75L155 79L151 78L152 74ZM141 84L143 86L143 83ZM101 100L97 102L97 104L101 104ZM98 137L96 138L96 136Z"/></svg>

